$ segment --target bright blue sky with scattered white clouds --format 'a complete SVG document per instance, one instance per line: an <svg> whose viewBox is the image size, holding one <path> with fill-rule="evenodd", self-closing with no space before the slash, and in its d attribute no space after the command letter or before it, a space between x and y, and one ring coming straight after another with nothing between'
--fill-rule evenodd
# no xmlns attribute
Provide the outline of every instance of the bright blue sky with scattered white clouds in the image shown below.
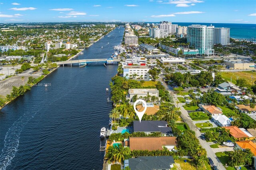
<svg viewBox="0 0 256 170"><path fill-rule="evenodd" d="M256 0L1 0L6 22L256 24Z"/></svg>

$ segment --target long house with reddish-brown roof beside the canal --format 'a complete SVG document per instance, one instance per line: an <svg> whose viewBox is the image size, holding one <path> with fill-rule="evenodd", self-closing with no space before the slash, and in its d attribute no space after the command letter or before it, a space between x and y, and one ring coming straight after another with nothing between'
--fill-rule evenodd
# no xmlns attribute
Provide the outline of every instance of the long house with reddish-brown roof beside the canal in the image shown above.
<svg viewBox="0 0 256 170"><path fill-rule="evenodd" d="M166 147L172 150L177 146L176 137L130 137L124 140L124 147L129 147L130 150L162 150Z"/></svg>

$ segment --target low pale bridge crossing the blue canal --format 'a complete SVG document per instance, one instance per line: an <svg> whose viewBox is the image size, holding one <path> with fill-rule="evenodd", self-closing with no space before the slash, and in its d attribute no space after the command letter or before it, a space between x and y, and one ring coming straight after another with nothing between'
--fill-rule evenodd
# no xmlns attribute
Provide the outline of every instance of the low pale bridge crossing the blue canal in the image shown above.
<svg viewBox="0 0 256 170"><path fill-rule="evenodd" d="M102 62L102 63L113 63L113 62L120 62L121 59L74 59L74 60L68 60L68 61L58 61L56 62L57 65L64 65L64 64L87 64L87 63L96 63L96 62Z"/></svg>

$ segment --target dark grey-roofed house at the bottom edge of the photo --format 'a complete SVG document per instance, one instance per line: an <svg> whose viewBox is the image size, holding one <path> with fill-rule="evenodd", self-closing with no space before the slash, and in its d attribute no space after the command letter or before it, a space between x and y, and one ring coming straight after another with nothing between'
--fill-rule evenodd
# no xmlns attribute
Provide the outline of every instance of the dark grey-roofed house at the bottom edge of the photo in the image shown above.
<svg viewBox="0 0 256 170"><path fill-rule="evenodd" d="M174 166L172 156L138 156L124 160L124 168L131 170L170 170Z"/></svg>

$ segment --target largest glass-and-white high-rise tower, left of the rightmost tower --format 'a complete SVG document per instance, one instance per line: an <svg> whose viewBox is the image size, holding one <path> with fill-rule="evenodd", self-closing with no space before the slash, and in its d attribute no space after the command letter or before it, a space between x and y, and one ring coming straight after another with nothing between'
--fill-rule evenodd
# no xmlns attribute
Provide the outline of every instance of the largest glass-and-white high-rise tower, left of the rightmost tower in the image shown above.
<svg viewBox="0 0 256 170"><path fill-rule="evenodd" d="M187 42L199 50L199 54L214 55L214 26L188 26Z"/></svg>

